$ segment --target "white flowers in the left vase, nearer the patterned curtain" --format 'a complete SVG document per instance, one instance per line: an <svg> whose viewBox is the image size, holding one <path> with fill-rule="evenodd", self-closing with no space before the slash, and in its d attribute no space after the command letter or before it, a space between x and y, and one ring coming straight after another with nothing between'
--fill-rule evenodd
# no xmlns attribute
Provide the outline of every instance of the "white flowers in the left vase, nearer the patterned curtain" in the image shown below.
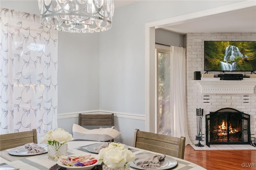
<svg viewBox="0 0 256 170"><path fill-rule="evenodd" d="M70 140L74 140L70 133L66 132L63 128L56 128L55 130L50 130L45 133L41 142L53 146L59 146Z"/></svg>

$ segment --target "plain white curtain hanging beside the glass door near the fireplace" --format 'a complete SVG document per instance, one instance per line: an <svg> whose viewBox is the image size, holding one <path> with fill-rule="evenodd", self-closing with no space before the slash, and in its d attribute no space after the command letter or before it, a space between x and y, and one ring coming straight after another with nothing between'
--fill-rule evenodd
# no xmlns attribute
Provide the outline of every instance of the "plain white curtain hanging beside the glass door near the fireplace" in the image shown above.
<svg viewBox="0 0 256 170"><path fill-rule="evenodd" d="M186 137L186 144L192 144L188 136L186 109L186 49L170 47L170 112L172 136Z"/></svg>

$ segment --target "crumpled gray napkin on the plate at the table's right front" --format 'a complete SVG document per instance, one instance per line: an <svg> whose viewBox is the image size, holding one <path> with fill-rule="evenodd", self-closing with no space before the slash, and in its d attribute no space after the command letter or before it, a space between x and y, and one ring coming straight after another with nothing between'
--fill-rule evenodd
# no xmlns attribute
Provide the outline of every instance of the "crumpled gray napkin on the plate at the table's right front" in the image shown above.
<svg viewBox="0 0 256 170"><path fill-rule="evenodd" d="M149 156L144 160L137 162L136 165L140 168L156 169L160 167L160 162L163 161L164 158L165 155L153 154L152 156Z"/></svg>

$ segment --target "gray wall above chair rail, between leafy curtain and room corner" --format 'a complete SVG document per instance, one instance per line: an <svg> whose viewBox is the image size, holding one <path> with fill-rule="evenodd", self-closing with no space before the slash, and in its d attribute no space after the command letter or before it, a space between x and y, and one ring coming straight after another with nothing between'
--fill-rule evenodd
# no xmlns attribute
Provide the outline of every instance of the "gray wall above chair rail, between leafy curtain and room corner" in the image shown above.
<svg viewBox="0 0 256 170"><path fill-rule="evenodd" d="M99 109L99 33L58 33L58 113Z"/></svg>

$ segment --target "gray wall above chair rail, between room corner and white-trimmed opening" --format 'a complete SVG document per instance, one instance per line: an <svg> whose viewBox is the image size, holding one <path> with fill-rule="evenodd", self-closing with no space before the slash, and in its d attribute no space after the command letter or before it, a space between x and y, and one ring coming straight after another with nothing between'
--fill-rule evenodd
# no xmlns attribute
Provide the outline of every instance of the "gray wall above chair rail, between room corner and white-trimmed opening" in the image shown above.
<svg viewBox="0 0 256 170"><path fill-rule="evenodd" d="M100 36L100 109L145 114L146 23L229 3L149 0L117 8Z"/></svg>

